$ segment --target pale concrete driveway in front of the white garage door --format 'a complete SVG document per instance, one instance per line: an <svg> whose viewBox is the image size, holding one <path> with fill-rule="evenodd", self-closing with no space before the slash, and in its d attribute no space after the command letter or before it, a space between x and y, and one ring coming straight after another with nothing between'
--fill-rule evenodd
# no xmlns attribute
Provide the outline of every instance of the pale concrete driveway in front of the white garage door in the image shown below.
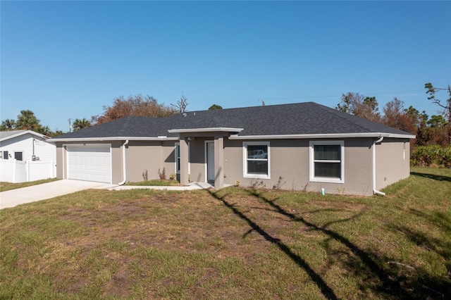
<svg viewBox="0 0 451 300"><path fill-rule="evenodd" d="M111 187L117 187L117 185L109 185L108 183L103 182L65 179L44 183L42 185L23 187L21 189L11 189L10 191L0 192L0 209L50 199L56 196L82 191L83 189L109 189Z"/></svg>

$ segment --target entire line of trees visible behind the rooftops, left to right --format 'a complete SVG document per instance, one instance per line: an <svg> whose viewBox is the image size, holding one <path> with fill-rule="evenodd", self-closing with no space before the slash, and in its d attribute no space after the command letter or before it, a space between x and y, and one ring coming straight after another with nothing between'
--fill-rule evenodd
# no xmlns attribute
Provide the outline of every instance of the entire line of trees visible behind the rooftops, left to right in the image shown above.
<svg viewBox="0 0 451 300"><path fill-rule="evenodd" d="M431 83L426 83L427 99L443 109L442 114L431 115L429 117L425 111L418 111L413 106L404 107L404 101L394 98L379 112L378 101L374 96L364 96L356 92L342 94L340 103L335 107L339 111L357 115L361 118L382 123L390 127L395 127L416 135L414 145L450 145L451 142L451 86L446 88L434 87ZM439 99L443 93L447 92L447 98ZM73 130L81 130L93 125L118 120L130 115L163 118L175 113L183 113L188 106L187 98L182 94L177 104L166 106L160 104L153 96L118 96L113 99L111 106L103 106L103 113L87 118L75 119ZM221 109L222 107L213 104L209 109ZM43 135L51 137L61 135L61 130L52 132L48 126L43 126L32 111L20 111L17 120L6 119L1 122L0 130L33 130Z"/></svg>

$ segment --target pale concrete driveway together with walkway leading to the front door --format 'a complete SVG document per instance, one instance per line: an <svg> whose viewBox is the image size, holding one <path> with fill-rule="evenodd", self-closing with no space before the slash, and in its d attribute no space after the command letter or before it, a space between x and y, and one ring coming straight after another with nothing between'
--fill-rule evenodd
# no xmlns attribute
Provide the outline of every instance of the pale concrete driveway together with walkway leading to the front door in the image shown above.
<svg viewBox="0 0 451 300"><path fill-rule="evenodd" d="M84 189L109 189L118 191L122 189L166 189L168 191L185 191L192 189L210 189L213 186L206 182L192 182L188 186L129 186L129 185L109 185L102 182L90 182L82 180L57 180L54 182L43 183L42 185L33 185L21 189L11 189L10 191L0 192L0 209L18 206L20 204L51 199L56 196L63 196Z"/></svg>

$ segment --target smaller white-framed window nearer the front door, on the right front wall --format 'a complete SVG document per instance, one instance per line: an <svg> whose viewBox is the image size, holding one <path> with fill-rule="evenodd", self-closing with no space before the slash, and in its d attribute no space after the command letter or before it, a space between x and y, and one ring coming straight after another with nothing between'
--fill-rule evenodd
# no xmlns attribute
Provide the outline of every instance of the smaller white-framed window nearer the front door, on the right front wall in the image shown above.
<svg viewBox="0 0 451 300"><path fill-rule="evenodd" d="M269 142L244 142L243 162L243 177L269 179Z"/></svg>

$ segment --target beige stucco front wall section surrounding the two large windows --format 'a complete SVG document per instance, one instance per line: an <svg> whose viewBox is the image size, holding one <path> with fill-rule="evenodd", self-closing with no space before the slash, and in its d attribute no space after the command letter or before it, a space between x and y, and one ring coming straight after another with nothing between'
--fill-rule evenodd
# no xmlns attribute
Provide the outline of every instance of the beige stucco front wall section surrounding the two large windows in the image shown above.
<svg viewBox="0 0 451 300"><path fill-rule="evenodd" d="M242 140L227 140L224 154L225 183L248 187L257 178L243 177ZM309 142L307 139L270 140L270 179L259 179L267 188L278 185L279 177L282 189L307 190L338 194L372 194L371 139L345 139L345 182L325 183L309 182ZM339 190L340 189L340 190Z"/></svg>

